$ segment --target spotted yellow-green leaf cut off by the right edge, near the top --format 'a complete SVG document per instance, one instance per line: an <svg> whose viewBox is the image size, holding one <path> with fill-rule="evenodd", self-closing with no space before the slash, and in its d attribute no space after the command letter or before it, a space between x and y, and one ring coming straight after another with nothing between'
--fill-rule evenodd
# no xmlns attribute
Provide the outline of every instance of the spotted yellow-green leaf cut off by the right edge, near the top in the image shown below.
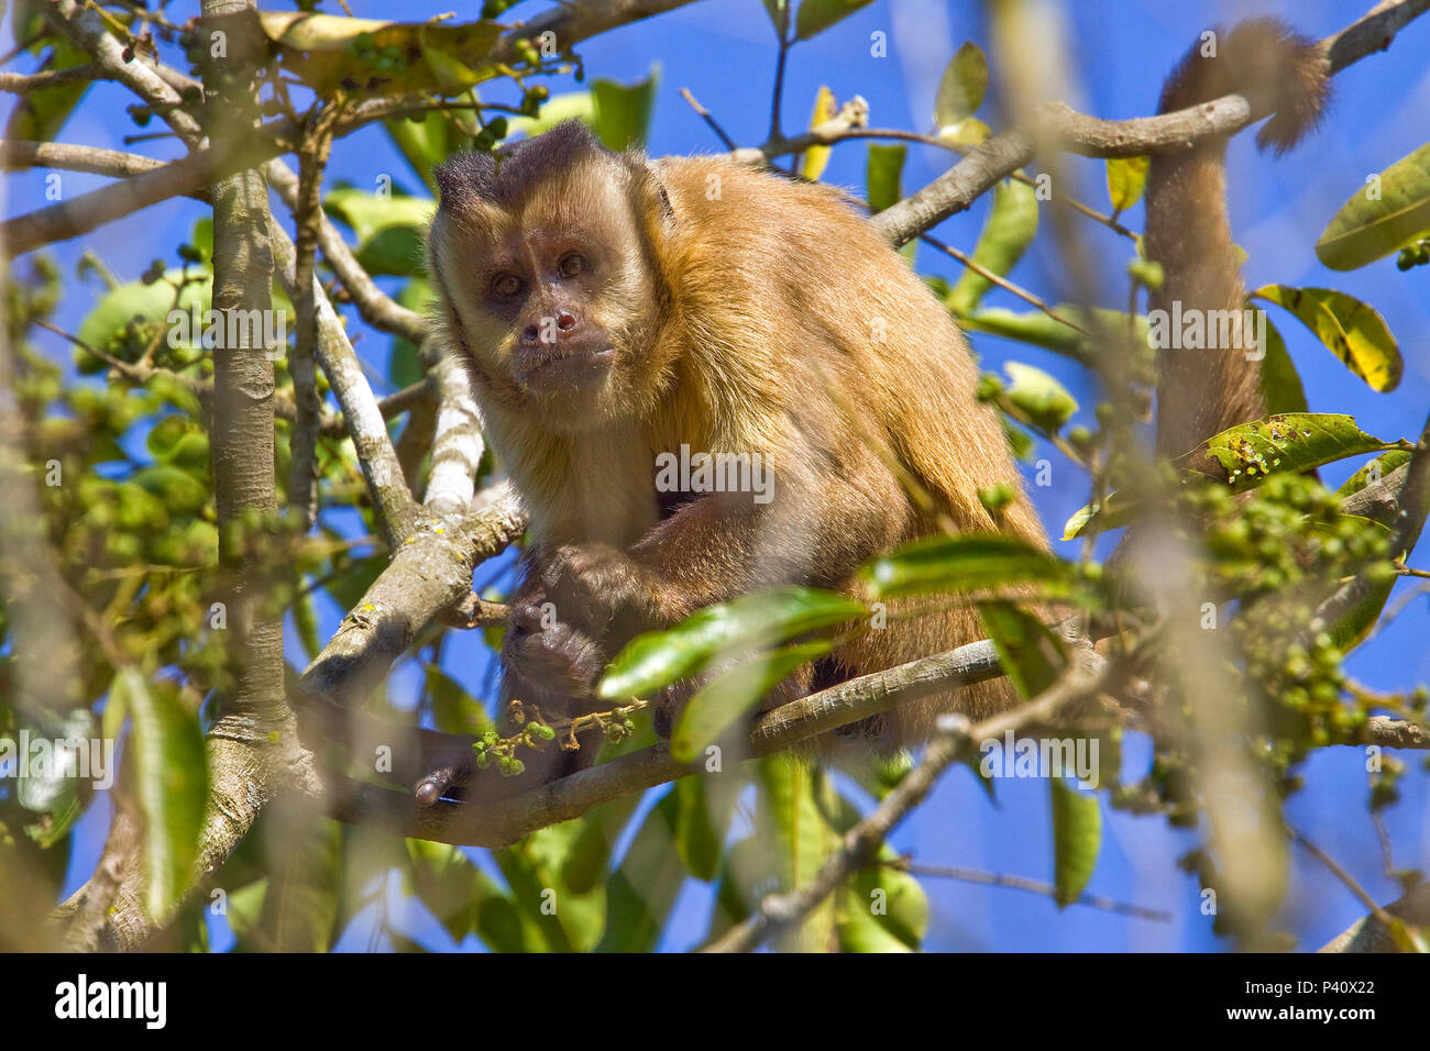
<svg viewBox="0 0 1430 1051"><path fill-rule="evenodd" d="M1430 233L1430 143L1380 173L1380 200L1364 189L1347 200L1316 242L1331 270L1354 270Z"/></svg>

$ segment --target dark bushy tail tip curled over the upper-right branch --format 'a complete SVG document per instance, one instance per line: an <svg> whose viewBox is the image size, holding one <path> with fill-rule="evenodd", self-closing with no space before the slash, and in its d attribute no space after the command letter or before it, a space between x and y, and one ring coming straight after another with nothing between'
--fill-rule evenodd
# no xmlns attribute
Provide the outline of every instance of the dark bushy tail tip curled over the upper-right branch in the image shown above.
<svg viewBox="0 0 1430 1051"><path fill-rule="evenodd" d="M1330 102L1324 50L1280 19L1251 19L1230 33L1218 29L1216 39L1216 57L1201 54L1201 41L1188 51L1167 82L1158 112L1241 94L1253 114L1274 114L1257 134L1257 146L1286 153L1320 122Z"/></svg>

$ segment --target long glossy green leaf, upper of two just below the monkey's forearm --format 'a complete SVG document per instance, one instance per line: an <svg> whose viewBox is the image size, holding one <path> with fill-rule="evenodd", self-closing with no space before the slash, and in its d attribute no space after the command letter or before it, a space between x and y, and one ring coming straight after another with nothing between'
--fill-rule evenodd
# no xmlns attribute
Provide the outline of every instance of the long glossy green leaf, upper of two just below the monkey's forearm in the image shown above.
<svg viewBox="0 0 1430 1051"><path fill-rule="evenodd" d="M611 662L596 695L645 696L724 655L778 645L865 616L858 602L815 588L775 588L701 609L674 628L632 639Z"/></svg>

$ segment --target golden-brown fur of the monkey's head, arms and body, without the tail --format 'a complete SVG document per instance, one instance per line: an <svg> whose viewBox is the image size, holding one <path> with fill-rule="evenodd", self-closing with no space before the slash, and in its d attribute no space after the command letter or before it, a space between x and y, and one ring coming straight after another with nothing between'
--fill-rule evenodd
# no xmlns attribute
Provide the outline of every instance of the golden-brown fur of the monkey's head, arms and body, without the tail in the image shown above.
<svg viewBox="0 0 1430 1051"><path fill-rule="evenodd" d="M1017 486L1018 472L994 412L974 396L968 346L835 190L718 157L611 154L576 126L533 142L542 140L545 170L535 162L526 170L449 166L429 243L449 343L531 510L535 566L513 602L526 603L531 622L532 603L556 599L562 621L573 622L563 636L533 626L525 652L522 642L508 645L508 676L521 689L541 694L536 679L545 679L548 699L579 692L598 666L588 658L609 658L635 631L764 585L852 592L861 563L935 529L891 462L958 529L998 528L977 490ZM489 295L483 302L489 276L478 263L526 259L539 273L543 250L531 245L548 237L541 232L578 229L583 243L603 246L592 273L612 285L588 289L581 306L562 302L582 327L589 317L609 335L609 370L593 382L523 383L526 359L545 352L523 352L515 333L536 315L499 315ZM566 295L558 285L552 295ZM682 445L762 455L774 500L662 499L655 456ZM1021 496L1002 528L1044 542ZM980 636L971 611L894 621L822 675L879 671ZM799 685L811 678L807 669ZM1010 698L1005 685L984 684L865 729L881 744L912 741L940 711L981 715Z"/></svg>

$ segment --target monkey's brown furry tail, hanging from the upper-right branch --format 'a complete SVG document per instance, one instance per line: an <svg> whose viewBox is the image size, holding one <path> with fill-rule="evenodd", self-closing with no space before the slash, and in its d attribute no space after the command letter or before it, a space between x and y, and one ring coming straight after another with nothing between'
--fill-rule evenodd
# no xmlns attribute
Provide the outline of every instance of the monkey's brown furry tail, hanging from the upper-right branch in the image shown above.
<svg viewBox="0 0 1430 1051"><path fill-rule="evenodd" d="M1271 113L1257 146L1277 154L1310 132L1330 97L1330 67L1323 49L1277 19L1254 19L1230 33L1198 41L1163 89L1160 113L1237 93L1253 114ZM1236 312L1246 287L1227 220L1226 136L1180 153L1153 157L1147 176L1147 257L1163 265L1163 287L1151 309L1183 319L1201 315L1204 332ZM1168 326L1170 327L1170 326ZM1167 330L1167 329L1164 329ZM1240 330L1238 330L1240 332ZM1170 333L1174 335L1174 333ZM1204 346L1211 346L1207 339ZM1267 415L1260 355L1237 346L1158 349L1157 450L1177 456L1211 435Z"/></svg>

